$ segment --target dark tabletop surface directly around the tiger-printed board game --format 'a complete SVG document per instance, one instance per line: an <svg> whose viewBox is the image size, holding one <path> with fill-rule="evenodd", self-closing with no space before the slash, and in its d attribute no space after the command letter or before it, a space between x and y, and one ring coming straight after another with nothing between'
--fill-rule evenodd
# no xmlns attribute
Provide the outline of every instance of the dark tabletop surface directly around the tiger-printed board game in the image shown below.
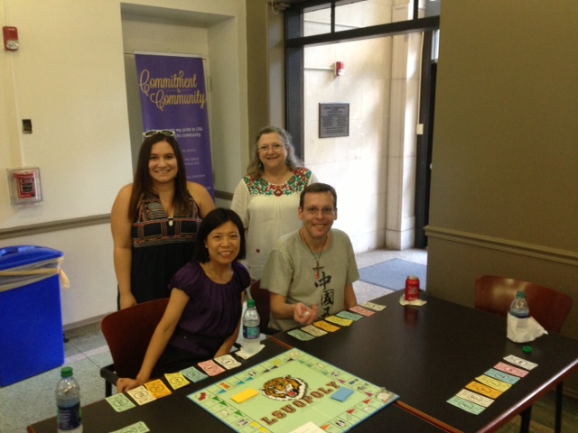
<svg viewBox="0 0 578 433"><path fill-rule="evenodd" d="M84 406L82 408L84 431L106 433L125 428L138 421L143 421L153 433L190 431L210 431L216 433L233 431L208 411L190 401L187 395L209 386L211 382L222 381L230 375L237 374L252 365L259 364L287 350L283 345L278 345L273 341L266 341L265 345L265 349L259 354L247 361L243 361L241 367L198 383L192 383L184 388L173 391L172 395L168 397L146 403L143 406L137 405L133 409L120 413L113 410L105 400ZM303 423L306 421L307 419L303 419ZM385 430L419 431L424 433L440 433L443 431L431 423L426 422L424 419L415 417L411 412L393 404L379 410L376 414L365 419L350 431ZM28 427L29 433L54 433L54 431L56 431L55 417L45 419Z"/></svg>

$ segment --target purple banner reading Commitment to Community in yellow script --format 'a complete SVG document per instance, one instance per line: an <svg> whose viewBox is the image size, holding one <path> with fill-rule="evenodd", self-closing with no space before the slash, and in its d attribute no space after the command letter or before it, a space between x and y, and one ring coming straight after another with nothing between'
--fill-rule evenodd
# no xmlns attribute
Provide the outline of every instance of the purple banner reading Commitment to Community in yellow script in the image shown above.
<svg viewBox="0 0 578 433"><path fill-rule="evenodd" d="M170 129L181 146L187 180L214 198L209 113L202 59L135 54L144 131Z"/></svg>

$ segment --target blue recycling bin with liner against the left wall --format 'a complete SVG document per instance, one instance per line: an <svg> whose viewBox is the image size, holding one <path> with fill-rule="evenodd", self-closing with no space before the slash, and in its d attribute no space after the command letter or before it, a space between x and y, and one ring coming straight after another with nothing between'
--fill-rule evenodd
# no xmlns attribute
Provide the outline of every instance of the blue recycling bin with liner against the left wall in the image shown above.
<svg viewBox="0 0 578 433"><path fill-rule="evenodd" d="M0 386L64 364L63 255L33 245L0 249Z"/></svg>

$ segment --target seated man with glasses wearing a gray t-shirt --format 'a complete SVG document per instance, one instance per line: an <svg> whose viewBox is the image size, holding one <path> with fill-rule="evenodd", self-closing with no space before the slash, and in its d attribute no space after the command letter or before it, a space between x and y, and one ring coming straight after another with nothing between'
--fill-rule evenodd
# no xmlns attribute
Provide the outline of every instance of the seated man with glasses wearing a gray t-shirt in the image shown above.
<svg viewBox="0 0 578 433"><path fill-rule="evenodd" d="M357 305L353 281L359 271L350 238L331 228L337 219L335 189L325 183L307 186L298 216L303 226L279 239L261 278L270 293L269 327L282 331Z"/></svg>

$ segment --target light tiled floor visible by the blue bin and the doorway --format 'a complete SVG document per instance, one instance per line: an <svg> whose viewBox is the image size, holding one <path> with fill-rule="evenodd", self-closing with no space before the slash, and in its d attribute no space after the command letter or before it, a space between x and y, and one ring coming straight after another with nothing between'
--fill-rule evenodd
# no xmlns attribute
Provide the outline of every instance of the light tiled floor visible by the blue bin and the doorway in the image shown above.
<svg viewBox="0 0 578 433"><path fill-rule="evenodd" d="M359 268L399 258L414 263L427 264L424 250L372 251L356 256ZM385 295L390 290L383 289L363 281L354 284L358 301L365 302ZM65 345L66 364L72 366L82 392L82 403L89 404L104 398L104 380L100 378L100 367L111 364L107 343L100 333L99 325L70 330L70 341ZM60 378L60 367L47 373L34 376L23 382L0 388L0 433L23 433L26 426L55 415L54 389ZM519 417L517 417L519 419ZM499 433L517 432L514 422L499 430ZM553 431L554 396L548 394L534 405L532 432ZM56 426L55 426L56 430ZM563 431L578 431L578 401L564 400Z"/></svg>

